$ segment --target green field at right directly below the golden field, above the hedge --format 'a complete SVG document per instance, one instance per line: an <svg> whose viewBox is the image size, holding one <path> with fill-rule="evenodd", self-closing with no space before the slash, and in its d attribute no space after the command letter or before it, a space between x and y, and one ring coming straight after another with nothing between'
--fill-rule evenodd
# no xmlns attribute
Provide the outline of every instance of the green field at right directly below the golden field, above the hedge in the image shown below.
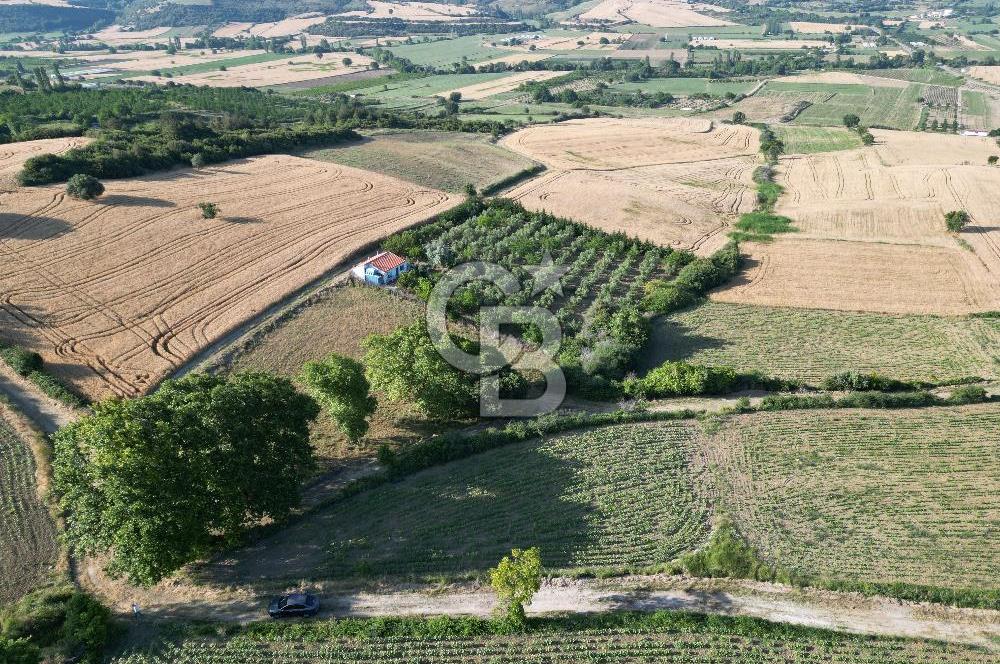
<svg viewBox="0 0 1000 664"><path fill-rule="evenodd" d="M905 380L1000 376L1000 320L709 302L658 321L648 366L728 364L819 382L840 371Z"/></svg>

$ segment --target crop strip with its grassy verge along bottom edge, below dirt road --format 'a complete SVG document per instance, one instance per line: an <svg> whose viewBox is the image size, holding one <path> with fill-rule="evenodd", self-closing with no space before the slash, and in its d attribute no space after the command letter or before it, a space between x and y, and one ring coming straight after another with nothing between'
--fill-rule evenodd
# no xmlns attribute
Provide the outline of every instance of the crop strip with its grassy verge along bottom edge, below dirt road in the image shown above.
<svg viewBox="0 0 1000 664"><path fill-rule="evenodd" d="M164 662L579 662L651 661L763 664L878 661L978 662L995 653L938 641L845 634L758 618L687 612L617 612L529 618L503 633L482 618L372 618L242 628L169 625L156 643L130 649L115 664ZM460 655L459 655L460 654ZM461 657L461 660L459 660Z"/></svg>

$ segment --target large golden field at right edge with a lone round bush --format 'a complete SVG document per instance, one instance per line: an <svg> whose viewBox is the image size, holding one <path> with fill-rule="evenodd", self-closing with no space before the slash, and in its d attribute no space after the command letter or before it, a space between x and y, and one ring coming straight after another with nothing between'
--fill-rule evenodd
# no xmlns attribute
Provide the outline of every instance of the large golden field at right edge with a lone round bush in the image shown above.
<svg viewBox="0 0 1000 664"><path fill-rule="evenodd" d="M874 131L870 148L781 160L777 212L797 233L746 247L724 302L889 313L1000 308L1000 170L992 141ZM966 210L964 243L944 213Z"/></svg>

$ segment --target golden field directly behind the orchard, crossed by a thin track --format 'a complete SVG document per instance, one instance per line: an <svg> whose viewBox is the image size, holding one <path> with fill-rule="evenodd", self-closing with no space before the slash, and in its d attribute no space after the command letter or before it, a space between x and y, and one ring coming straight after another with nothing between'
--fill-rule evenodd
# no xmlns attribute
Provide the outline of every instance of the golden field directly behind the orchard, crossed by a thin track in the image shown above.
<svg viewBox="0 0 1000 664"><path fill-rule="evenodd" d="M530 210L610 232L710 252L753 208L755 130L709 120L575 120L526 129L503 144L545 163L508 196Z"/></svg>

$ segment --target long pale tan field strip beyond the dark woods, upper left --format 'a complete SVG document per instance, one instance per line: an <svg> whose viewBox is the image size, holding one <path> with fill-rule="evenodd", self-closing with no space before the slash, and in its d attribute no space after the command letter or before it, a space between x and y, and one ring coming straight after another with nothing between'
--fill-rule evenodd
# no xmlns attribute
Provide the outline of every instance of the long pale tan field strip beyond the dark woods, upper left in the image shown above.
<svg viewBox="0 0 1000 664"><path fill-rule="evenodd" d="M334 53L319 58L314 54L289 57L288 60L269 60L249 65L228 67L226 71L203 71L194 74L173 76L135 76L131 80L151 81L154 83L188 83L191 85L208 85L217 88L235 87L267 87L285 83L301 83L316 79L327 79L344 74L352 74L368 69L371 58L351 53L351 65L345 66L343 55Z"/></svg>

